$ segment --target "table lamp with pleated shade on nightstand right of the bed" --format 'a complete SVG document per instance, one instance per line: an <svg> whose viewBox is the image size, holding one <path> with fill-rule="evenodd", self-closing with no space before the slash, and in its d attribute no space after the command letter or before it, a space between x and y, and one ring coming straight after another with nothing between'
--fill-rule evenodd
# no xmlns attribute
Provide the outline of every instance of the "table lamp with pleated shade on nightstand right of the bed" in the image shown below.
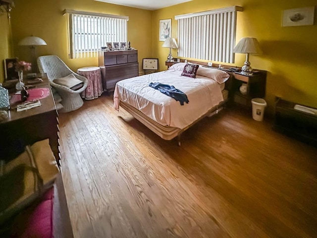
<svg viewBox="0 0 317 238"><path fill-rule="evenodd" d="M256 38L245 37L242 38L236 47L233 49L234 53L246 54L246 61L241 68L241 73L244 75L252 75L252 67L250 66L249 55L260 55L263 54L260 44Z"/></svg>

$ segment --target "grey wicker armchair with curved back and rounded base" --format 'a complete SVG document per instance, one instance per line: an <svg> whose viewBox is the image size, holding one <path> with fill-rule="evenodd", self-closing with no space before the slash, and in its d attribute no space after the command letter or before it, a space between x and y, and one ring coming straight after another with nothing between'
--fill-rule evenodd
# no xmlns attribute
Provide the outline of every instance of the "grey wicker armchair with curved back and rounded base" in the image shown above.
<svg viewBox="0 0 317 238"><path fill-rule="evenodd" d="M83 92L87 87L88 79L86 77L73 72L57 56L41 56L38 58L37 62L40 72L47 73L51 86L56 89L56 91L62 98L62 101L60 103L63 108L59 110L59 112L67 113L83 106L84 102L80 97L80 93ZM69 74L74 74L76 78L83 81L83 87L74 91L70 88L53 82L54 79L65 77Z"/></svg>

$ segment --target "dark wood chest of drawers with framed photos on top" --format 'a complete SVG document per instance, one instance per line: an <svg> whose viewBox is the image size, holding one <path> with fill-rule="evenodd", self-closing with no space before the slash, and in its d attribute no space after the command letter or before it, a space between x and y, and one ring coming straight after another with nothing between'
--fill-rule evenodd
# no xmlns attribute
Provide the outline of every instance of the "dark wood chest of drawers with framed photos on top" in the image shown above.
<svg viewBox="0 0 317 238"><path fill-rule="evenodd" d="M99 66L104 90L114 89L116 82L139 75L138 51L99 51Z"/></svg>

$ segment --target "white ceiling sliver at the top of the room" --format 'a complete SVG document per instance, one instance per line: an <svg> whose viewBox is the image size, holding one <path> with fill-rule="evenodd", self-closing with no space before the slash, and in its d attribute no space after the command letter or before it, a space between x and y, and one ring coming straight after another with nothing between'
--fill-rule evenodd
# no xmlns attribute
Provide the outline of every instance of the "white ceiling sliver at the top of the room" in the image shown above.
<svg viewBox="0 0 317 238"><path fill-rule="evenodd" d="M166 6L176 5L186 1L192 0L96 0L96 1L104 1L108 3L124 5L124 6L132 6L147 10L156 10L159 8L163 8Z"/></svg>

